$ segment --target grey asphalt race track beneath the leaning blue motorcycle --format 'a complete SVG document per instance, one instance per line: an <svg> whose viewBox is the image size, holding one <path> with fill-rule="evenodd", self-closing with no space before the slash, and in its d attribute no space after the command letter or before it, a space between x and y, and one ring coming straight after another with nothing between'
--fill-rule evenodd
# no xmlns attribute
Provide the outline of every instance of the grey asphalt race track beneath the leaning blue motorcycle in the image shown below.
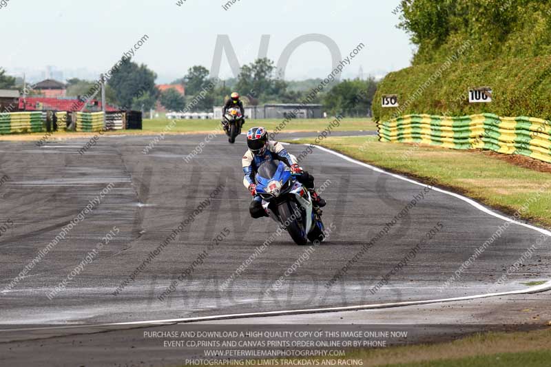
<svg viewBox="0 0 551 367"><path fill-rule="evenodd" d="M103 137L82 156L78 151L87 139L50 142L43 147L32 142L2 143L0 176L7 175L10 180L0 187L0 224L9 220L13 225L0 236L1 328L438 300L527 289L524 282L548 280L550 275L551 251L545 242L527 266L498 284L499 277L537 243L541 233L511 224L496 236L503 220L468 202L322 149L313 149L301 165L316 177L318 186L324 184L322 196L328 202L324 223L334 229L329 240L304 256L309 247L298 247L283 233L258 253L257 248L277 226L269 218L249 218L250 195L242 185L240 167L246 149L242 136L235 145L229 145L225 137L214 138L189 163L183 158L205 136L167 136L144 155L143 148L152 138ZM306 147L289 145L287 149L299 156ZM6 290L25 264L111 182L112 189L101 202ZM224 185L220 195L211 199L134 281L114 295L119 284L220 185ZM329 286L337 271L414 198L416 204L407 215ZM118 229L114 238L50 300L48 294L114 227ZM439 231L417 248L415 258L392 275L386 286L371 292L435 227ZM213 246L212 240L224 231L229 235ZM444 286L492 235L495 240L486 251ZM176 291L159 300L204 251L208 255L202 263L196 262ZM221 289L255 251L256 258L240 275L234 275L227 289ZM296 271L265 294L300 258Z"/></svg>

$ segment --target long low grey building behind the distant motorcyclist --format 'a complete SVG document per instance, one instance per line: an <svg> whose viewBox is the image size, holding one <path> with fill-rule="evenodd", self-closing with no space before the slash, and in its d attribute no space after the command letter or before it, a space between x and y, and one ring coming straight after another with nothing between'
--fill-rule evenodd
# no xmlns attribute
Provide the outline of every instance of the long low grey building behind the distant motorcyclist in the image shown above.
<svg viewBox="0 0 551 367"><path fill-rule="evenodd" d="M323 118L323 106L315 104L278 103L261 106L245 105L245 116L251 119L262 118ZM214 118L222 119L222 107L214 107Z"/></svg>

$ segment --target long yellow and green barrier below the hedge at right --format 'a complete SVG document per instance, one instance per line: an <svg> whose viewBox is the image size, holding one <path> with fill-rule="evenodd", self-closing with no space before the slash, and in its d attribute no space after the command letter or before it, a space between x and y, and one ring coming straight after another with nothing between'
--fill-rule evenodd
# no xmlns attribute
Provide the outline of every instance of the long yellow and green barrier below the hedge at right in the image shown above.
<svg viewBox="0 0 551 367"><path fill-rule="evenodd" d="M541 118L415 114L377 123L377 131L382 142L488 149L551 163L551 122Z"/></svg>

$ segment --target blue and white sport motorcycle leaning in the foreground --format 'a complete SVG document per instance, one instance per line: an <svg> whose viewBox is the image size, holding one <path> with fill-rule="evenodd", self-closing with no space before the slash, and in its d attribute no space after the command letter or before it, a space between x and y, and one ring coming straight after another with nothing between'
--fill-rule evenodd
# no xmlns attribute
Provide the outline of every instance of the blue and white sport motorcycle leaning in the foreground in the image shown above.
<svg viewBox="0 0 551 367"><path fill-rule="evenodd" d="M296 244L324 240L322 211L314 208L309 191L299 182L300 175L278 160L268 160L256 173L256 192L270 218L289 232Z"/></svg>

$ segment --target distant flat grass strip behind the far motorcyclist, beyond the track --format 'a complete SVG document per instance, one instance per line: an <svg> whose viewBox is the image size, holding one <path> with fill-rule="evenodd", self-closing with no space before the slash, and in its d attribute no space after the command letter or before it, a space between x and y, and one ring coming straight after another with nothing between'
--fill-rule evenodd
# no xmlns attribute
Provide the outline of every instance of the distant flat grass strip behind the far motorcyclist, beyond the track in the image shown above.
<svg viewBox="0 0 551 367"><path fill-rule="evenodd" d="M169 123L174 120L167 118L156 118L154 120L143 120L143 130L149 132L162 132ZM282 132L318 132L326 129L327 125L333 121L333 118L325 119L308 119L308 120L291 120L287 127ZM269 131L273 131L282 120L267 119L267 120L247 120L245 127L263 126ZM219 120L176 120L176 126L170 132L212 132L220 125ZM375 130L377 127L373 120L369 118L344 118L339 127L335 127L333 131L356 131L356 130Z"/></svg>

